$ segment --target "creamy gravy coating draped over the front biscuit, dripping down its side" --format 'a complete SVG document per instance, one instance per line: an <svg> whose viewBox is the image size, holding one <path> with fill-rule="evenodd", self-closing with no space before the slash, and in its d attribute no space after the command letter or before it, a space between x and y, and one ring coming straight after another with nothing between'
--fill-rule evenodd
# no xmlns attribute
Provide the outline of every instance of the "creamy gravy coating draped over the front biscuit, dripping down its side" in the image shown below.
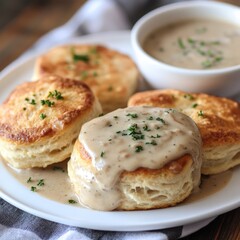
<svg viewBox="0 0 240 240"><path fill-rule="evenodd" d="M118 181L123 171L159 169L185 154L193 158L194 188L199 186L200 133L188 116L175 110L118 109L85 123L79 141L91 157L91 166L79 164L73 152L68 167L74 171L76 178L71 180L84 206L116 209L121 202Z"/></svg>

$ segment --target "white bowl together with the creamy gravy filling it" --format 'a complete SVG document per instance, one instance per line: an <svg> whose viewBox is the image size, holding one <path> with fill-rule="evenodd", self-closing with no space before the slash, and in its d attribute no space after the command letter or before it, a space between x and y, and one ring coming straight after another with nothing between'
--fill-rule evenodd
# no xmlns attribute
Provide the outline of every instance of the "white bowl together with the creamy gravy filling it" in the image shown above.
<svg viewBox="0 0 240 240"><path fill-rule="evenodd" d="M153 10L134 25L136 63L153 88L240 92L240 8L193 1Z"/></svg>

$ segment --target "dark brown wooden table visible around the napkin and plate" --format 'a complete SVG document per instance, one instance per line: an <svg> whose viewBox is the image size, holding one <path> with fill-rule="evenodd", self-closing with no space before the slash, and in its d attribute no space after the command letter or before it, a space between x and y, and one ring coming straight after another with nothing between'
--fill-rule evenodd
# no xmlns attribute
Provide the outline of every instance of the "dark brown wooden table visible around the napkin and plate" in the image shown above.
<svg viewBox="0 0 240 240"><path fill-rule="evenodd" d="M10 5L12 1L5 1L5 6L0 6L0 70L31 47L40 36L65 23L84 2L22 0L14 1L17 5L13 8ZM227 2L240 5L240 0ZM208 226L183 239L240 240L240 208L220 215Z"/></svg>

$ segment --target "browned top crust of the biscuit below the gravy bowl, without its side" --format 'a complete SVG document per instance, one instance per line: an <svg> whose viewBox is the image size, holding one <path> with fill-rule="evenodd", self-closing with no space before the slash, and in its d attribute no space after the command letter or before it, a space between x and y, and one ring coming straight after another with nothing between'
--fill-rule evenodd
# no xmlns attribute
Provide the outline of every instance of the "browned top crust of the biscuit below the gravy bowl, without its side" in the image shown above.
<svg viewBox="0 0 240 240"><path fill-rule="evenodd" d="M137 93L129 106L171 107L191 117L197 124L204 147L240 142L240 105L227 98L177 90Z"/></svg>

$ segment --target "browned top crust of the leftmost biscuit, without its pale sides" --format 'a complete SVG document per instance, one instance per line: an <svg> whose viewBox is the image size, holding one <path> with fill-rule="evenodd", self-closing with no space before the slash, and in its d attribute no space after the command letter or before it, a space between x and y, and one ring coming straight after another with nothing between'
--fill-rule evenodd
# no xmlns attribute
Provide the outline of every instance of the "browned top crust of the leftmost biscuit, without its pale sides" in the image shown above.
<svg viewBox="0 0 240 240"><path fill-rule="evenodd" d="M27 144L63 131L94 103L85 84L58 76L27 82L0 106L0 137Z"/></svg>

